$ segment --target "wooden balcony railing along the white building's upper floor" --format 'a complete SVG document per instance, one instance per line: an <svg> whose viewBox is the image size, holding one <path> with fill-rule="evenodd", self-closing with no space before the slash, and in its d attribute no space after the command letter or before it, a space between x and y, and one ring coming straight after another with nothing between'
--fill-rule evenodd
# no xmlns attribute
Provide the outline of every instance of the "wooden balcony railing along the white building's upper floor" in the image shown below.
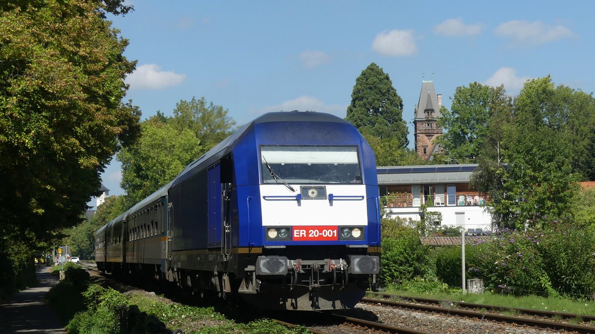
<svg viewBox="0 0 595 334"><path fill-rule="evenodd" d="M421 204L430 204L430 206L482 206L487 204L487 200L486 197L479 193L415 197L412 194L389 194L381 197L381 203L386 207L417 207L421 206Z"/></svg>

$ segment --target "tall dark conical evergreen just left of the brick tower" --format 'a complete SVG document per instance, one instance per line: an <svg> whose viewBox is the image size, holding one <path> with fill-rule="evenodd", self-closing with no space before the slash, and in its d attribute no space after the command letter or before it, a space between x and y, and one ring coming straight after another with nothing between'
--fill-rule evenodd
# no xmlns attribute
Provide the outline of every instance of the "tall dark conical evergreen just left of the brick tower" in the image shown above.
<svg viewBox="0 0 595 334"><path fill-rule="evenodd" d="M403 100L389 75L373 62L355 79L345 119L363 134L395 138L403 148L409 144L409 130L403 121Z"/></svg>

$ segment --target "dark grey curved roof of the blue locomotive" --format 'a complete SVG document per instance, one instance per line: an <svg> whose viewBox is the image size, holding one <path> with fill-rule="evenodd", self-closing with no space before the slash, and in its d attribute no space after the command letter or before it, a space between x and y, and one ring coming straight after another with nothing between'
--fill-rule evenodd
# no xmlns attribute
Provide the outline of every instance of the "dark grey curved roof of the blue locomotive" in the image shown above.
<svg viewBox="0 0 595 334"><path fill-rule="evenodd" d="M222 157L226 156L236 146L237 141L239 141L244 136L244 134L248 133L248 131L251 130L255 124L270 122L333 122L350 124L349 122L345 121L345 119L339 118L335 115L326 114L324 112L268 112L267 114L259 116L253 121L250 121L248 124L245 124L234 134L227 137L221 141L221 143L215 145L215 147L213 147L211 150L187 165L186 168L184 168L184 170L181 171L176 177L176 179L174 179L171 186L173 187L174 185L179 184L181 181L189 177L192 174L190 171L192 171L192 169L196 166L203 164L210 165L211 163L215 163Z"/></svg>

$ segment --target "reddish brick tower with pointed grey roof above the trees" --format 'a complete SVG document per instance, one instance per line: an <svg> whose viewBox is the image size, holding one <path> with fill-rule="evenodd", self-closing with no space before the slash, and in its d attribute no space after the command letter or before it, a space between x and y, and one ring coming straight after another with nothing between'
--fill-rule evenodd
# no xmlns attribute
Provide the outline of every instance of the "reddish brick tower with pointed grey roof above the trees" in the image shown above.
<svg viewBox="0 0 595 334"><path fill-rule="evenodd" d="M442 95L436 94L434 81L422 80L419 103L415 107L415 152L424 160L431 160L433 153L441 153L440 145L433 141L442 134L438 124Z"/></svg>

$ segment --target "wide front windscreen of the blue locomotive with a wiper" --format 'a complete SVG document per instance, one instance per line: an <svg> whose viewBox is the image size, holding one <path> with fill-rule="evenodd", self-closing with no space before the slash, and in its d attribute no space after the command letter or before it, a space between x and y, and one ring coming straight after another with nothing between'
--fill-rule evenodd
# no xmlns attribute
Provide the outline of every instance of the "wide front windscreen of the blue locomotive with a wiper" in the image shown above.
<svg viewBox="0 0 595 334"><path fill-rule="evenodd" d="M261 146L263 183L361 184L357 146Z"/></svg>

